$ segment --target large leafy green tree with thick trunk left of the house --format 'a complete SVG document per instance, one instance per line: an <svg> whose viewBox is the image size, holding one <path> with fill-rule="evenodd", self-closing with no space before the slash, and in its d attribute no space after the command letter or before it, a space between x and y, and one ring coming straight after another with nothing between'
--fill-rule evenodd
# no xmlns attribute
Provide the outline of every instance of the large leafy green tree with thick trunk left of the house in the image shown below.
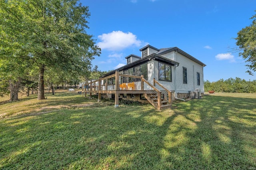
<svg viewBox="0 0 256 170"><path fill-rule="evenodd" d="M0 1L4 34L16 37L29 51L22 57L38 67L38 99L44 97L44 71L90 69L94 55L100 55L92 35L86 33L90 16L78 0ZM4 42L4 40L3 40ZM5 45L7 48L7 46Z"/></svg>

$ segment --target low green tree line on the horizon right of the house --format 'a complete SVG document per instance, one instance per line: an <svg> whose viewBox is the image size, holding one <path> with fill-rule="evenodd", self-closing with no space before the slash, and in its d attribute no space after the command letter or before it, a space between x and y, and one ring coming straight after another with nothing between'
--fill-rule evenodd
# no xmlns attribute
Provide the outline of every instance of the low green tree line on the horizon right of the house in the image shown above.
<svg viewBox="0 0 256 170"><path fill-rule="evenodd" d="M246 81L236 77L235 79L220 79L214 82L204 81L204 91L210 90L222 93L256 93L256 80Z"/></svg>

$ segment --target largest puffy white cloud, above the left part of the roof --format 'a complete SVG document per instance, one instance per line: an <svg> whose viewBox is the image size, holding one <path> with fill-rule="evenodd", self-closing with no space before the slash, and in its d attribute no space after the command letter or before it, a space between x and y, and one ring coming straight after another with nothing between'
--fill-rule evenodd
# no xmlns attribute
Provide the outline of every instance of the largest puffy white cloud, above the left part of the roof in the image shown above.
<svg viewBox="0 0 256 170"><path fill-rule="evenodd" d="M97 45L101 49L110 51L118 51L131 46L140 47L142 45L142 41L138 40L137 36L131 32L113 31L108 34L102 34L98 38L101 42L98 42Z"/></svg>

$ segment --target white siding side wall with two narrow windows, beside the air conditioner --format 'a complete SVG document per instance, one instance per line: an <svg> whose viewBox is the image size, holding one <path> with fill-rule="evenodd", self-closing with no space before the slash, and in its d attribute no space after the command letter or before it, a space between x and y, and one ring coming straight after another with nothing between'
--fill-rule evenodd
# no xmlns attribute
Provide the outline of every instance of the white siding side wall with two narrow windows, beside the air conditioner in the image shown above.
<svg viewBox="0 0 256 170"><path fill-rule="evenodd" d="M201 89L201 92L204 93L202 65L188 59L180 53L176 53L176 61L180 63L179 66L176 67L176 92L188 93L195 89ZM187 84L183 83L183 67L187 69ZM197 72L200 73L200 85L197 85Z"/></svg>

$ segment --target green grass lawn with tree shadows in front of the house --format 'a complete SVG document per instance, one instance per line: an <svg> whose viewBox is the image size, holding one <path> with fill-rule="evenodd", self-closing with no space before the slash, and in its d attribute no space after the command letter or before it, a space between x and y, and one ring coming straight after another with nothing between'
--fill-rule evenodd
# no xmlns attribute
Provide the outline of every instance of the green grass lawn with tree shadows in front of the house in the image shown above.
<svg viewBox="0 0 256 170"><path fill-rule="evenodd" d="M76 92L46 97L0 101L0 169L256 169L256 94L164 111Z"/></svg>

